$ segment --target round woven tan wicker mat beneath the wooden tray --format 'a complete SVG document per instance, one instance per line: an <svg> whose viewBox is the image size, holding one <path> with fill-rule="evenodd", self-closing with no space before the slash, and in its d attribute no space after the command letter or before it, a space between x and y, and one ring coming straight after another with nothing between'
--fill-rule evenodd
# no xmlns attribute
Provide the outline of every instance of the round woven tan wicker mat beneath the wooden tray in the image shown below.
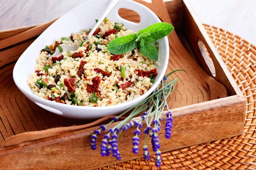
<svg viewBox="0 0 256 170"><path fill-rule="evenodd" d="M194 145L162 153L160 169L256 169L256 46L221 28L204 25L227 68L247 99L244 133L231 139ZM101 170L149 170L154 166L144 158L102 167Z"/></svg>

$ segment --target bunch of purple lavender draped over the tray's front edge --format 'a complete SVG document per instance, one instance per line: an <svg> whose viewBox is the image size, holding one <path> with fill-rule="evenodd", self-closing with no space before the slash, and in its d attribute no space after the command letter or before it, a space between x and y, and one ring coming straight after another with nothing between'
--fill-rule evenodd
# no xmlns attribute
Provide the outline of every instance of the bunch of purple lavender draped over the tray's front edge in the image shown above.
<svg viewBox="0 0 256 170"><path fill-rule="evenodd" d="M184 71L184 70L175 70L175 71ZM166 113L166 124L165 124L165 137L169 139L172 137L172 126L173 126L173 118L172 113L169 110L167 98L169 97L170 93L173 91L173 86L177 83L178 79L172 79L169 81L168 77L173 74L175 71L167 74L163 77L161 83L157 86L156 90L152 92L150 96L144 99L142 102L139 102L137 105L129 108L124 113L120 114L119 116L113 117L113 120L109 122L107 125L101 125L99 130L95 130L94 134L91 136L91 149L96 149L96 139L97 136L101 134L102 131L105 131L109 125L113 122L117 122L119 117L123 116L128 111L133 111L131 114L124 119L123 121L119 122L116 126L108 129L108 134L104 135L104 139L102 140L101 144L101 155L102 156L109 156L112 151L112 155L117 159L121 160L121 154L119 153L118 147L118 138L122 131L127 131L131 127L136 127L134 130L134 137L132 138L132 152L137 154L139 152L139 144L140 144L140 129L142 128L142 122L145 121L146 127L144 127L143 133L145 134L145 144L143 146L143 155L145 160L149 160L149 152L147 146L147 136L149 135L151 138L151 144L153 151L156 154L155 165L160 167L161 165L161 152L160 152L160 142L158 132L161 129L161 116L164 110L167 110ZM145 111L146 110L146 111ZM143 116L138 117L131 121L132 118L136 117L138 114L143 112ZM153 124L153 127L152 127ZM112 136L111 136L112 134ZM110 137L111 136L111 137Z"/></svg>

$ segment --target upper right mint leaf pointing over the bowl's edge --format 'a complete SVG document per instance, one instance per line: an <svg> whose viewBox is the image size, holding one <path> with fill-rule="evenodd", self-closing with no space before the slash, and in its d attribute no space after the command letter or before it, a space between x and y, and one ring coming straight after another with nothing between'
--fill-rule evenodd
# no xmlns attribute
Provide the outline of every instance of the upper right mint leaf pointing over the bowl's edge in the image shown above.
<svg viewBox="0 0 256 170"><path fill-rule="evenodd" d="M155 40L159 40L163 37L166 37L169 35L174 27L169 23L154 23L151 26L148 26L147 28L140 30L137 34L139 37L140 34L143 33L149 33L151 38L154 38Z"/></svg>

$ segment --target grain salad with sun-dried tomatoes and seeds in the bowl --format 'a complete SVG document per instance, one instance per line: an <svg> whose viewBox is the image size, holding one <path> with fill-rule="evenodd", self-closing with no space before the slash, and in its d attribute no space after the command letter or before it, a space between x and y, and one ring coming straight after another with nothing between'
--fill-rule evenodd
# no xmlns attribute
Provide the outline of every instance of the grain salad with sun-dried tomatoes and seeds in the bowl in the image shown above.
<svg viewBox="0 0 256 170"><path fill-rule="evenodd" d="M145 94L157 76L157 62L143 56L139 48L117 55L107 49L112 40L135 32L107 18L85 40L89 32L82 29L41 50L35 72L27 80L33 93L79 106L117 105ZM62 51L60 44L80 47ZM62 54L52 57L56 48Z"/></svg>

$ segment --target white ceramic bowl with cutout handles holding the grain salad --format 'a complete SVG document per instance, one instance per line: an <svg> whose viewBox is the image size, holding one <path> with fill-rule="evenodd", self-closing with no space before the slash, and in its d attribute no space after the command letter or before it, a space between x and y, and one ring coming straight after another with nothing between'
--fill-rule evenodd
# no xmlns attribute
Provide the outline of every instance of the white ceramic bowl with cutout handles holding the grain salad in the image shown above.
<svg viewBox="0 0 256 170"><path fill-rule="evenodd" d="M32 100L32 102L35 102L35 104L47 111L61 116L76 119L93 119L121 113L141 102L157 87L163 78L168 65L169 44L167 37L157 41L159 42L158 62L160 63L160 66L157 66L158 75L155 78L155 82L145 94L137 99L113 106L88 107L51 102L47 99L35 96L32 93L31 88L27 84L27 79L30 77L31 73L35 71L36 57L39 55L41 49L44 48L45 45L52 44L56 39L69 37L72 32L78 32L81 28L92 28L95 24L95 19L101 16L109 2L110 0L92 0L73 8L52 23L52 25L49 26L49 28L47 28L20 56L13 70L13 79L20 91ZM121 18L118 14L120 8L128 8L136 11L140 15L140 23L133 23ZM134 31L139 31L153 23L160 22L157 15L150 9L131 0L120 0L107 17L118 23L124 23L125 28Z"/></svg>

